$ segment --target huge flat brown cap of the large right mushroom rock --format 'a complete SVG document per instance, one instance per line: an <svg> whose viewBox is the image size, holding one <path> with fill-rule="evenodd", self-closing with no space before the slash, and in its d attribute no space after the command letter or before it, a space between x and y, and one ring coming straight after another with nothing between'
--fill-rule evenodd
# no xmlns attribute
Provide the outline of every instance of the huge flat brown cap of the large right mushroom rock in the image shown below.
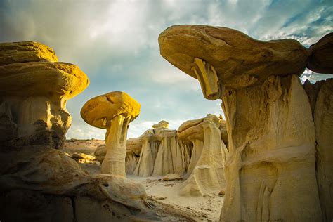
<svg viewBox="0 0 333 222"><path fill-rule="evenodd" d="M159 34L161 55L197 79L195 59L216 72L224 86L244 87L270 75L301 75L308 51L294 39L259 41L227 27L174 25ZM212 67L210 67L212 66Z"/></svg>

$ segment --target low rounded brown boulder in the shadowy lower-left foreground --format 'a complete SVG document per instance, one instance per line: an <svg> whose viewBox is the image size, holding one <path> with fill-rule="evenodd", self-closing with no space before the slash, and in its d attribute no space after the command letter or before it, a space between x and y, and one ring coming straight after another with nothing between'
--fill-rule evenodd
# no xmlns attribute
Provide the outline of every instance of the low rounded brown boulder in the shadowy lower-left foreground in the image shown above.
<svg viewBox="0 0 333 222"><path fill-rule="evenodd" d="M13 155L15 155L15 159L11 159L10 164L2 161ZM11 213L15 212L17 207L25 206L23 208L23 211L27 211L25 214L22 214L22 211L18 212L21 220L24 218L22 216L31 218L33 214L37 214L37 218L40 219L46 216L55 219L60 216L58 214L65 211L67 213L64 218L68 216L67 220L74 216L77 221L86 221L81 214L85 214L87 208L96 210L93 214L97 216L105 204L109 205L107 218L113 218L112 211L114 211L124 220L129 220L133 214L126 207L138 211L141 209L145 211L148 209L147 206L150 207L142 185L121 176L89 176L63 152L53 149L44 150L44 148L36 146L9 154L1 153L0 189L5 195L4 198L1 198L1 204L6 206L4 209L1 207L1 215L10 218ZM22 194L20 190L31 191L18 199L11 200L11 197ZM54 195L57 195L56 198ZM41 198L39 198L40 196ZM32 204L30 207L45 206L50 210L54 205L55 209L52 211L56 214L48 215L48 211L41 207L29 211L29 205L25 205L22 201ZM86 203L83 204L81 201ZM83 205L77 207L77 204Z"/></svg>

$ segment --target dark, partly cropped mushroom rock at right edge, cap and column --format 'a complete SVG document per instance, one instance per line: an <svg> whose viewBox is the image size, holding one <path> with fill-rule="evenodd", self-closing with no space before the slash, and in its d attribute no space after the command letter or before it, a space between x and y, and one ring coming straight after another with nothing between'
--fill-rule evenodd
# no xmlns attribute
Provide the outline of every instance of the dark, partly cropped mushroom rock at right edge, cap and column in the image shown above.
<svg viewBox="0 0 333 222"><path fill-rule="evenodd" d="M333 34L322 37L310 47L308 67L314 72L333 74ZM304 89L311 104L315 122L317 183L324 221L333 220L333 79L306 81Z"/></svg>

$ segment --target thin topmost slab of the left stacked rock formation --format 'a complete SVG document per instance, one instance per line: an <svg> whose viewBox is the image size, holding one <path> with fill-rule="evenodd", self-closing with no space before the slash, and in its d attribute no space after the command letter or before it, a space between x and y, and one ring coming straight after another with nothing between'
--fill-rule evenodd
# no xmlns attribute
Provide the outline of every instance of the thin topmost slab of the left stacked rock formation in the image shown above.
<svg viewBox="0 0 333 222"><path fill-rule="evenodd" d="M58 58L52 48L34 41L0 44L0 65L41 61L58 62Z"/></svg>

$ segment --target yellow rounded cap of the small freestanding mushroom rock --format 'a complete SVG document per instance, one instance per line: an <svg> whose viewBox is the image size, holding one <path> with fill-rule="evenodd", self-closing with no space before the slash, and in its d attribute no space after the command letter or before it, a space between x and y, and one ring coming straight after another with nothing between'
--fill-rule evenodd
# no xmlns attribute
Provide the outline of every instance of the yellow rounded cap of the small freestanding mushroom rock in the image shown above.
<svg viewBox="0 0 333 222"><path fill-rule="evenodd" d="M140 103L124 92L111 92L88 100L81 108L81 117L87 124L107 129L107 123L117 115L130 117L129 122L138 117Z"/></svg>

